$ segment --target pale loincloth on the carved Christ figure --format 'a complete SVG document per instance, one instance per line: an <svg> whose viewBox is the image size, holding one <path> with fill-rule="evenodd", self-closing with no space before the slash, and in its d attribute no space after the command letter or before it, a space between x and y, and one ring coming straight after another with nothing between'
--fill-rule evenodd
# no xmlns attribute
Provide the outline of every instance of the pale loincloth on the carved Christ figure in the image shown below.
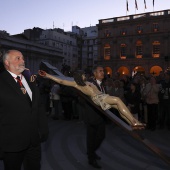
<svg viewBox="0 0 170 170"><path fill-rule="evenodd" d="M110 109L110 108L111 108L111 105L108 104L108 103L106 103L106 102L104 101L104 99L105 99L107 96L109 96L109 95L108 95L108 94L103 94L103 93L101 93L101 94L98 94L98 95L96 95L96 96L93 96L91 99L93 100L93 102L94 102L96 105L101 106L101 108L102 108L103 110L107 110L107 109Z"/></svg>

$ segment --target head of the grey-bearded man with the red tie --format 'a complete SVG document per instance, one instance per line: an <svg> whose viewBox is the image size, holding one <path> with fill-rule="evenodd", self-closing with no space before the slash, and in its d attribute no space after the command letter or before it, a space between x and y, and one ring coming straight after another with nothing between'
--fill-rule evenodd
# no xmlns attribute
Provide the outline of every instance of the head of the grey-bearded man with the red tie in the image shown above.
<svg viewBox="0 0 170 170"><path fill-rule="evenodd" d="M25 61L21 52L11 51L5 60L7 70L14 74L21 74L25 70Z"/></svg>

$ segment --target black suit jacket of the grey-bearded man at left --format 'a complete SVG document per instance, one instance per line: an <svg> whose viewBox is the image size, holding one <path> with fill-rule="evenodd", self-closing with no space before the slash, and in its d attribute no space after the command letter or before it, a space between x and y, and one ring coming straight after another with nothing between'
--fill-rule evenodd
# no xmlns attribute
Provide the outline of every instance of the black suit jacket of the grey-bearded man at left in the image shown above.
<svg viewBox="0 0 170 170"><path fill-rule="evenodd" d="M39 89L28 82L33 98L32 106L23 96L10 73L0 74L0 148L18 152L29 145L37 145L48 134L45 110L40 103Z"/></svg>

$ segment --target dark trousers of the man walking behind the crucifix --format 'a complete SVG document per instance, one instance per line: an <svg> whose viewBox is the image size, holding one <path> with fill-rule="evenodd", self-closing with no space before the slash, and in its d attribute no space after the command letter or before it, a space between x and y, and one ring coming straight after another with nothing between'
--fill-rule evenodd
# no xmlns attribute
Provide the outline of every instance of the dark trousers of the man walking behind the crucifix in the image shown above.
<svg viewBox="0 0 170 170"><path fill-rule="evenodd" d="M95 159L95 152L105 138L105 123L87 124L86 145L89 160Z"/></svg>

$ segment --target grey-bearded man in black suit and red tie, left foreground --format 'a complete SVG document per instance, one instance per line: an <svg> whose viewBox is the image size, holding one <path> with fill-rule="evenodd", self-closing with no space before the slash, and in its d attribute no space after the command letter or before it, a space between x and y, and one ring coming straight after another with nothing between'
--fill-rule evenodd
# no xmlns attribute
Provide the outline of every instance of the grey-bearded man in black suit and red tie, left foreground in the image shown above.
<svg viewBox="0 0 170 170"><path fill-rule="evenodd" d="M48 136L47 118L35 82L22 72L22 53L9 50L3 55L5 70L0 74L0 150L5 170L40 170L41 146Z"/></svg>

